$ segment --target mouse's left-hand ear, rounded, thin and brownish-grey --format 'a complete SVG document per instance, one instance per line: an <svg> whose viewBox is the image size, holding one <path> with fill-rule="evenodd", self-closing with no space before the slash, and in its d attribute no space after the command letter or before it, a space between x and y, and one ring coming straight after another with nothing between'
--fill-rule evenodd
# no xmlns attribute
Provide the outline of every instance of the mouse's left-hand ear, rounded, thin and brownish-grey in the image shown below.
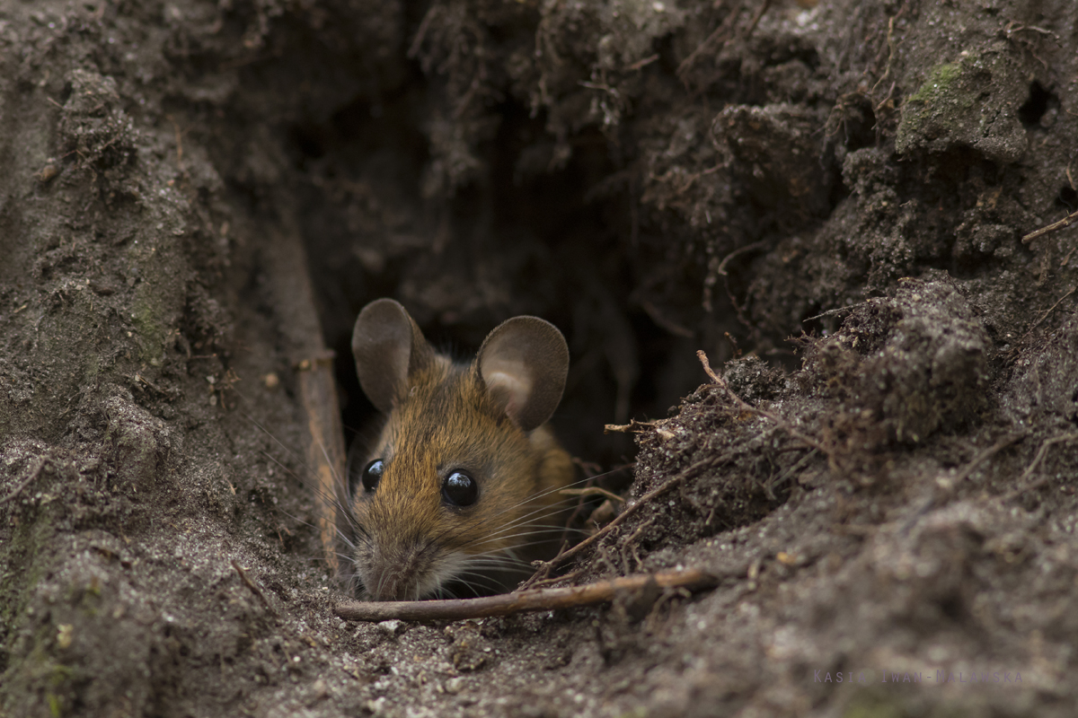
<svg viewBox="0 0 1078 718"><path fill-rule="evenodd" d="M429 366L434 352L407 310L392 299L363 307L351 333L356 374L371 403L383 413L409 391L409 377Z"/></svg>

